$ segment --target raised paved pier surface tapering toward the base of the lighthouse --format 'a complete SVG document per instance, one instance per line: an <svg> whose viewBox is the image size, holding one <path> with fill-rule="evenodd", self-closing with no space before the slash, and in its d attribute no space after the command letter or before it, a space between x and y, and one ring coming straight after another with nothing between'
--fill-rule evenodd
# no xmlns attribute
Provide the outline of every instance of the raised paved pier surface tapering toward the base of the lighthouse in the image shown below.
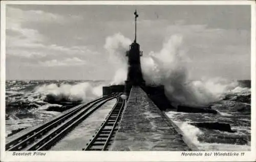
<svg viewBox="0 0 256 162"><path fill-rule="evenodd" d="M169 119L140 87L133 87L112 151L189 151Z"/></svg>

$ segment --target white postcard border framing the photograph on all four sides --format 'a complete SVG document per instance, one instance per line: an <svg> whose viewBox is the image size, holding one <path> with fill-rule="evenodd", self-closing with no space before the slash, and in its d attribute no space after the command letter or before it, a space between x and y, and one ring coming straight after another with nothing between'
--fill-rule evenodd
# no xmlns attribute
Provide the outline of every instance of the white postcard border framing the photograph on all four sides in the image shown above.
<svg viewBox="0 0 256 162"><path fill-rule="evenodd" d="M6 5L251 5L251 151L39 151L46 155L16 156L5 151L5 20ZM255 2L254 1L1 1L1 161L255 161ZM17 152L17 151L16 151ZM24 151L20 151L24 152ZM36 151L32 151L36 152ZM182 152L237 152L244 156L182 156Z"/></svg>

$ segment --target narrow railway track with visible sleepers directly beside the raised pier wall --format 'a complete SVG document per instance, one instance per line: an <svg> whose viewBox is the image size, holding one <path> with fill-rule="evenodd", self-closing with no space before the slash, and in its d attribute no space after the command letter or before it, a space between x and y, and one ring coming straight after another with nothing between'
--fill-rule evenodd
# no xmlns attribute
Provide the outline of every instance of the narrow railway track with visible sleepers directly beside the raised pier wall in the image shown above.
<svg viewBox="0 0 256 162"><path fill-rule="evenodd" d="M124 108L125 100L118 97L117 102L105 121L101 123L101 127L98 129L93 139L87 144L83 151L105 151L111 145L114 138L114 133L117 131L117 125L121 119L122 111Z"/></svg>

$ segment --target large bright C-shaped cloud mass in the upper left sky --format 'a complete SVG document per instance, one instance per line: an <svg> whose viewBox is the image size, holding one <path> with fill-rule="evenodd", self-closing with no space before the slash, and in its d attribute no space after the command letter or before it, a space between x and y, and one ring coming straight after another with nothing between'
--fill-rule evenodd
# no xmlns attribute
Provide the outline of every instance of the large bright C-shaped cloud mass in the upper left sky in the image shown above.
<svg viewBox="0 0 256 162"><path fill-rule="evenodd" d="M49 42L45 35L38 30L25 28L25 24L40 22L47 24L65 23L69 20L78 20L79 16L63 17L58 14L40 10L23 11L7 7L6 19L6 53L10 56L25 58L45 57L53 55L83 55L84 53L96 53L87 46L64 47Z"/></svg>

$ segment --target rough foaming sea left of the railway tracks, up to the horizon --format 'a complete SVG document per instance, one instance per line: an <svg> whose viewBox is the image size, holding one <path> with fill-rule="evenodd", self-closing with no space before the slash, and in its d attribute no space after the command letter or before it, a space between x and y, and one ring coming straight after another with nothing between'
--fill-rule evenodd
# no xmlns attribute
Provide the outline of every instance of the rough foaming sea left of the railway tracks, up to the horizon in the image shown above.
<svg viewBox="0 0 256 162"><path fill-rule="evenodd" d="M7 81L6 136L49 121L82 101L101 96L102 86L106 83L90 80Z"/></svg>

